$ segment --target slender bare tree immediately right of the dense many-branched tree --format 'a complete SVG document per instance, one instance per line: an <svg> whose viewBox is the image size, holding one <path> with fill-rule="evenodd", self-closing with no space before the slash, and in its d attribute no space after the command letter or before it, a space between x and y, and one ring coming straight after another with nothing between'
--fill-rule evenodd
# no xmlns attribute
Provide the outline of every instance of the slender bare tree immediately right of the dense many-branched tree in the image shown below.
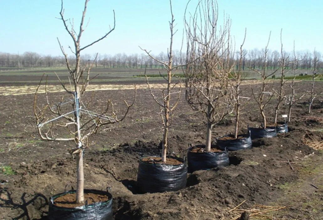
<svg viewBox="0 0 323 220"><path fill-rule="evenodd" d="M245 29L245 37L246 32ZM235 111L235 132L234 132L234 138L238 138L238 128L239 128L239 120L240 120L240 113L241 110L244 108L241 103L241 99L250 99L249 97L241 96L242 90L240 89L241 82L245 79L245 77L242 75L242 62L245 58L246 52L242 49L243 45L245 44L245 37L243 39L242 44L240 45L240 51L238 53L239 59L238 59L238 69L237 71L233 71L231 75L233 76L233 79L229 81L231 83L231 86L233 88L232 94L234 99L234 111Z"/></svg>

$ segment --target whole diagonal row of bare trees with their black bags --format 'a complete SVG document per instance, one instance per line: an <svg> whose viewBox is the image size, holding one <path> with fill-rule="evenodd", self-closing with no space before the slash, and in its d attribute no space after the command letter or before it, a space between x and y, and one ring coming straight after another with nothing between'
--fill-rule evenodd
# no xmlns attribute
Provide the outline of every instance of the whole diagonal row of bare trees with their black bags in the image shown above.
<svg viewBox="0 0 323 220"><path fill-rule="evenodd" d="M84 171L83 171L83 151L90 144L89 137L98 132L99 127L118 123L122 121L129 109L134 105L125 102L125 114L118 117L114 112L111 100L108 100L106 108L101 113L89 111L89 103L83 104L83 95L86 91L91 78L89 77L92 65L82 63L80 52L93 44L107 37L115 27L114 26L102 37L92 43L81 46L80 39L84 31L83 22L86 15L87 4L85 0L84 10L77 33L74 26L69 26L64 18L63 3L61 5L60 18L73 40L75 46L72 52L75 55L75 66L70 65L68 55L64 47L59 46L66 58L68 72L70 74L71 86L65 86L60 81L63 89L71 96L68 101L61 100L58 104L53 104L48 100L47 87L45 85L46 104L37 105L37 92L35 93L34 113L37 120L37 130L42 140L46 141L74 141L76 147L70 151L71 155L77 158L77 189L54 195L50 198L49 219L111 219L112 218L112 195L108 192L98 190L84 189ZM227 19L221 28L218 26L218 7L213 1L202 0L198 3L193 13L186 13L185 9L185 33L186 33L186 59L180 65L173 65L173 36L175 30L175 19L171 8L170 24L170 45L168 48L168 60L158 60L153 57L150 51L142 49L153 60L164 66L167 76L161 76L165 79L166 89L161 90L161 96L155 95L155 90L151 88L149 78L146 75L146 82L149 87L152 98L161 108L161 118L163 126L163 140L161 156L151 155L143 157L139 161L137 184L143 192L164 192L177 191L186 186L187 172L196 170L207 170L218 166L229 165L228 150L242 150L252 147L251 140L254 138L268 138L277 135L277 132L287 132L287 124L277 123L277 114L280 106L283 104L286 96L284 85L284 75L287 67L297 62L289 62L286 55L281 52L281 80L280 87L276 92L267 91L269 86L267 78L273 75L266 72L266 57L268 52L268 43L264 50L262 71L250 69L259 73L262 77L260 89L252 89L252 96L259 105L260 114L263 117L262 128L248 128L247 134L238 134L241 111L244 109L251 97L242 96L241 83L244 80L242 74L242 61L245 51L243 43L238 52L238 59L234 61L235 52L232 45L230 34L231 20ZM202 22L201 22L202 21ZM246 36L246 32L245 32ZM269 37L270 38L270 37ZM237 68L234 68L237 66ZM181 98L182 81L176 77L176 71L182 70L185 74L185 98L191 108L201 112L206 121L205 145L190 146L187 153L187 163L185 159L167 156L168 133L173 122L173 112ZM93 78L92 78L93 79ZM136 94L136 93L135 93ZM173 98L173 96L175 98ZM161 97L158 98L158 97ZM276 97L277 105L275 108L275 123L267 126L265 107L269 101ZM91 100L89 101L91 102ZM71 104L73 111L63 113L63 107L67 103ZM216 138L216 145L212 145L212 129L214 125L221 122L224 118L235 116L234 135L225 135ZM53 117L50 118L48 114ZM69 138L57 137L57 129L54 127L64 127L70 134ZM188 164L188 166L187 166Z"/></svg>

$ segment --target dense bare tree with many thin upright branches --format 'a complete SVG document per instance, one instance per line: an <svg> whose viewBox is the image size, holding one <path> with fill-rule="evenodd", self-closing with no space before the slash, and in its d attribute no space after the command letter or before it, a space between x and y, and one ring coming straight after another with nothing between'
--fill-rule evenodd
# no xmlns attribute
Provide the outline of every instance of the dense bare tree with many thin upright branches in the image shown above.
<svg viewBox="0 0 323 220"><path fill-rule="evenodd" d="M228 82L234 68L231 21L225 18L223 26L218 26L216 1L200 1L195 12L188 16L185 10L189 63L185 69L185 97L191 108L206 118L206 152L211 151L214 125L233 112L232 92Z"/></svg>

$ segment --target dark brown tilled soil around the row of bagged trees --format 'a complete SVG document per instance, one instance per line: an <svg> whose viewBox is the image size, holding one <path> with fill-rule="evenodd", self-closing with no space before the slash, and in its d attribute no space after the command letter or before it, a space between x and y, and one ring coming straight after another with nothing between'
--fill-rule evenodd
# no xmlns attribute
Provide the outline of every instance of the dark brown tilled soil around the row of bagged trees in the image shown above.
<svg viewBox="0 0 323 220"><path fill-rule="evenodd" d="M297 92L305 93L309 83L297 82ZM319 94L312 113L307 113L306 103L294 107L289 133L253 140L253 148L229 152L230 166L195 171L189 174L187 187L178 192L146 194L137 190L138 160L160 156L162 129L159 107L147 90L138 90L128 117L90 139L95 145L84 151L85 187L110 188L115 219L232 219L245 210L251 219L320 219L322 148L309 147L318 146L323 138L323 83L316 86ZM244 95L250 96L246 88ZM58 102L60 94L50 98ZM103 108L111 98L122 114L123 100L131 101L132 95L131 90L100 91L90 109ZM0 171L0 219L46 219L48 198L63 192L66 184L76 185L76 160L68 153L75 143L38 140L33 95L0 96L0 100L0 167L12 169L6 174ZM38 100L45 103L43 95ZM267 115L272 121L273 109ZM258 127L260 122L255 103L249 102L239 133L245 134L248 124ZM203 117L190 109L182 94L168 152L184 157L189 143L204 144L205 130ZM234 132L234 117L214 126L213 138L230 132Z"/></svg>

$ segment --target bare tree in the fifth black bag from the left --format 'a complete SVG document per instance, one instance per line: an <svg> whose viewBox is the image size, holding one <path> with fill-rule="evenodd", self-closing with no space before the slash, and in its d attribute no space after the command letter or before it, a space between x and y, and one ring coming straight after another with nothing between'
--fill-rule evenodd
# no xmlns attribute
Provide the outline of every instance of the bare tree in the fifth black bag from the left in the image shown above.
<svg viewBox="0 0 323 220"><path fill-rule="evenodd" d="M268 103L270 102L270 100L272 99L274 93L270 92L270 88L267 91L268 87L272 87L268 85L267 79L274 75L277 71L278 68L274 71L271 72L267 72L267 62L268 62L268 45L269 45L269 41L270 41L270 35L271 32L269 33L269 37L268 37L268 42L266 44L265 49L263 50L263 57L262 59L262 70L257 70L251 66L249 66L249 68L253 71L255 71L256 73L258 73L261 76L261 87L260 90L255 91L255 89L253 87L251 87L251 91L252 91L252 95L255 98L256 103L258 104L259 110L260 110L260 114L262 116L263 119L263 128L266 128L267 126L267 121L266 121L266 113L265 113L265 109L266 106L268 105Z"/></svg>

